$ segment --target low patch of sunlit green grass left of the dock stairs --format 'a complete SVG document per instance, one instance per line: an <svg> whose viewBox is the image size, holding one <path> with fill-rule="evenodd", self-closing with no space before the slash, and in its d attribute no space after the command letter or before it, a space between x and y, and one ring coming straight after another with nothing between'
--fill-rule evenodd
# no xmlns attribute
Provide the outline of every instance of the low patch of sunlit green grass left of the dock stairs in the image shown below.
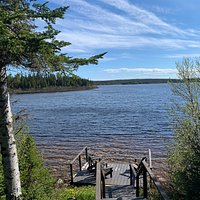
<svg viewBox="0 0 200 200"><path fill-rule="evenodd" d="M94 186L71 187L58 192L57 200L95 200Z"/></svg>

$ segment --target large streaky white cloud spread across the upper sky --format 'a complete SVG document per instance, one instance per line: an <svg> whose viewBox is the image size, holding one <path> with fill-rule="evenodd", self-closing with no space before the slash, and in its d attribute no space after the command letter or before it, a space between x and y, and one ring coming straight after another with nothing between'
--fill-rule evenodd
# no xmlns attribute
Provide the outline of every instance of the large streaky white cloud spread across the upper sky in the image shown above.
<svg viewBox="0 0 200 200"><path fill-rule="evenodd" d="M86 0L50 2L70 5L66 21L59 20L57 25L62 30L59 39L70 41L72 45L69 49L74 52L101 48L200 47L199 30L182 30L134 5L134 1L99 0L101 4ZM120 10L120 14L115 9L108 9L108 5Z"/></svg>

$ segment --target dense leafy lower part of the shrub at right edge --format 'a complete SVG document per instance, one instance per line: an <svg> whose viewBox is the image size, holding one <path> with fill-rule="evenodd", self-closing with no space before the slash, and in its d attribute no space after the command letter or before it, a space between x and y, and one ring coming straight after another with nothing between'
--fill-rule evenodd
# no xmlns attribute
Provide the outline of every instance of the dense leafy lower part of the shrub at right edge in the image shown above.
<svg viewBox="0 0 200 200"><path fill-rule="evenodd" d="M193 136L200 135L200 131L189 120L179 122L179 126L169 157L170 177L175 190L184 199L199 199L200 144Z"/></svg>

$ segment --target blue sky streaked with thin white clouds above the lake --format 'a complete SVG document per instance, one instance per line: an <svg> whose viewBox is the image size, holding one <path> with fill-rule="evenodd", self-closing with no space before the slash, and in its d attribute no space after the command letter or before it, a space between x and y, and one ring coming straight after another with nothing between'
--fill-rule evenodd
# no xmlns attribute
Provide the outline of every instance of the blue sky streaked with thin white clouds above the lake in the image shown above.
<svg viewBox="0 0 200 200"><path fill-rule="evenodd" d="M199 0L49 0L70 6L56 27L74 57L108 52L77 74L92 80L175 78L176 62L200 56Z"/></svg>

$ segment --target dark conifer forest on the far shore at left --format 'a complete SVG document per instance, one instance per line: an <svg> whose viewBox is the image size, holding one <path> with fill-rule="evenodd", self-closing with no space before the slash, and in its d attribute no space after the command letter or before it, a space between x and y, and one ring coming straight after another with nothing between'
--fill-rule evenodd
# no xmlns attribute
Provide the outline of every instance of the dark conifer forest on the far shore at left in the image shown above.
<svg viewBox="0 0 200 200"><path fill-rule="evenodd" d="M41 89L49 87L90 87L92 81L78 76L69 77L63 73L29 73L8 75L10 89Z"/></svg>

